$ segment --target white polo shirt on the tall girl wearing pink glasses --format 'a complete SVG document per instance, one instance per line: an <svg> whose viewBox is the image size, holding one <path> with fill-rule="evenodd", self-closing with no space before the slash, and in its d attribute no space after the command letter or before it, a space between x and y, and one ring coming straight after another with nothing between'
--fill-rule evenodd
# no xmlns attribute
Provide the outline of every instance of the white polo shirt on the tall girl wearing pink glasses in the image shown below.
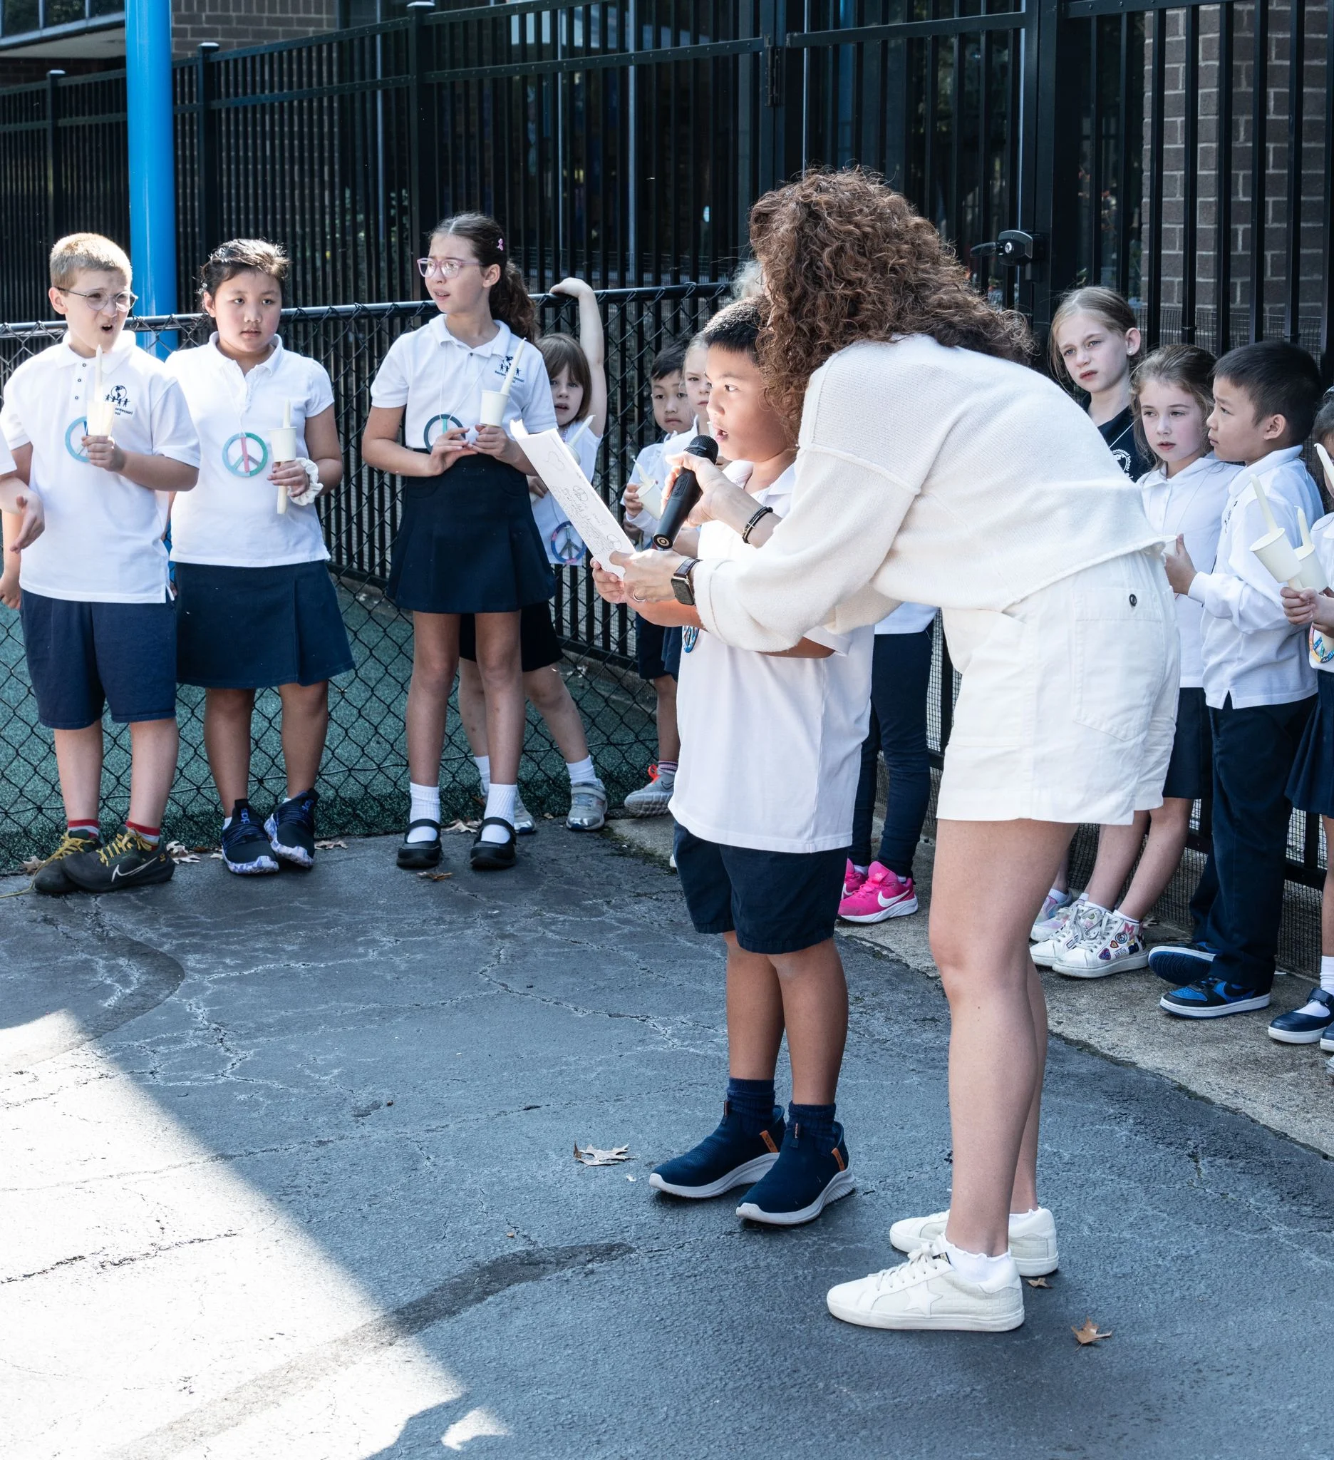
<svg viewBox="0 0 1334 1460"><path fill-rule="evenodd" d="M496 327L493 340L471 349L450 333L445 315L439 314L420 330L394 340L371 383L371 404L404 407L406 447L429 451L442 431L476 426L482 419L482 391L501 390L515 349L520 365L505 406L505 429L515 420L523 420L530 432L553 429L556 407L541 350L518 339L508 324L496 320Z"/></svg>

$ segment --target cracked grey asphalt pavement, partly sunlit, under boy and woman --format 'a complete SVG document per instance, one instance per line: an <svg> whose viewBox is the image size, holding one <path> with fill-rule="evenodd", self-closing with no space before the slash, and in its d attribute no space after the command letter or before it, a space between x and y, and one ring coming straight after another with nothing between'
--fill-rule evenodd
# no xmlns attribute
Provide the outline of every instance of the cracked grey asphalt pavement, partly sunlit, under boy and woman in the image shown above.
<svg viewBox="0 0 1334 1460"><path fill-rule="evenodd" d="M6 1460L1334 1456L1325 1158L1054 1041L1026 1324L845 1327L947 1199L938 986L844 943L858 1191L747 1226L647 1184L725 1079L676 879L558 825L490 877L393 847L0 902Z"/></svg>

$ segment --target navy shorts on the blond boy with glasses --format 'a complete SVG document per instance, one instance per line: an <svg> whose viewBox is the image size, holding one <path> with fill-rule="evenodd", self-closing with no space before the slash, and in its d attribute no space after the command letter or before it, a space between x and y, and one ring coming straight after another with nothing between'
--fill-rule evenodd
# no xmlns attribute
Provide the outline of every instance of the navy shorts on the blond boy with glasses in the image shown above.
<svg viewBox="0 0 1334 1460"><path fill-rule="evenodd" d="M72 603L23 588L23 648L48 730L177 717L177 610L163 603Z"/></svg>

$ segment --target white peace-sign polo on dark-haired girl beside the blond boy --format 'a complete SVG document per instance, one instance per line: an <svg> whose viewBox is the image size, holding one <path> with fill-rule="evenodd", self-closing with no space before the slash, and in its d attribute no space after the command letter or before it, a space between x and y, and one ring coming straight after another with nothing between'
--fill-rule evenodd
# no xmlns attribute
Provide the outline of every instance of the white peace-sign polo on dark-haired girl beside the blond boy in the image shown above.
<svg viewBox="0 0 1334 1460"><path fill-rule="evenodd" d="M274 339L269 359L242 372L217 347L216 334L207 345L177 350L166 368L185 393L200 437L198 486L171 510L172 559L222 568L324 562L328 549L315 504L289 501L280 514L269 473L273 431L289 402L296 454L309 456L305 423L333 404L328 371Z"/></svg>

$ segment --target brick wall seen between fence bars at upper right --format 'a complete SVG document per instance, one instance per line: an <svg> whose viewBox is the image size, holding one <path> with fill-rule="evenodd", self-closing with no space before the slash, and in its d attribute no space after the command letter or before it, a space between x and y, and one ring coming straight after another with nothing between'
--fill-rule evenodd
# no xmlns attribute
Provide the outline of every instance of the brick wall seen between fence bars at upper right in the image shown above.
<svg viewBox="0 0 1334 1460"><path fill-rule="evenodd" d="M1331 180L1324 175L1325 88L1330 85L1325 55L1328 0L1308 0L1305 6L1305 42L1302 66L1303 117L1300 130L1300 234L1299 234L1299 324L1312 333L1318 323L1321 301L1321 269L1325 241L1321 212L1325 188ZM1286 232L1289 219L1287 165L1292 32L1287 6L1270 4L1270 34L1265 57L1264 95L1264 212L1254 216L1252 149L1257 127L1252 115L1252 86L1255 77L1255 6L1238 3L1235 7L1232 76L1219 74L1219 9L1204 6L1200 15L1200 67L1197 110L1197 248L1191 260L1182 256L1185 223L1185 82L1187 41L1185 12L1166 12L1166 41L1163 50L1166 92L1163 96L1163 216L1160 282L1165 307L1182 304L1182 282L1190 267L1195 277L1197 326L1201 343L1210 343L1216 330L1216 315L1223 301L1217 296L1219 256L1219 85L1232 91L1232 282L1227 307L1233 311L1233 334L1246 328L1251 305L1251 260L1260 248L1264 257L1262 304L1265 331L1283 328L1287 298ZM1144 218L1150 209L1152 111L1153 111L1153 36L1146 29L1144 41ZM1150 264L1146 238L1144 264ZM1147 277L1146 277L1147 288Z"/></svg>

